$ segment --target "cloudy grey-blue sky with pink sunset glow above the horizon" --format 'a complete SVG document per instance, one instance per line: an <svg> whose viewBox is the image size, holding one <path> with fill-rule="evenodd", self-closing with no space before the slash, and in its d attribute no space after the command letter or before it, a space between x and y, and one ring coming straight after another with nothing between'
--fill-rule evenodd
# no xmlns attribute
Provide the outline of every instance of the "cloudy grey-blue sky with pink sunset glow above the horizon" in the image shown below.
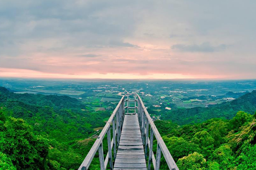
<svg viewBox="0 0 256 170"><path fill-rule="evenodd" d="M0 0L0 77L256 78L256 0Z"/></svg>

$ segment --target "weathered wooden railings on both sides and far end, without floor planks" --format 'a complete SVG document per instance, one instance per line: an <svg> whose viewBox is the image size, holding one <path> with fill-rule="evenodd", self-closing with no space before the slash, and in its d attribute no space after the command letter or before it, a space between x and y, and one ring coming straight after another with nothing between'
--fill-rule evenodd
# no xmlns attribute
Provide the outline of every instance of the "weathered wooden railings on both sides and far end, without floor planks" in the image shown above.
<svg viewBox="0 0 256 170"><path fill-rule="evenodd" d="M127 96L127 99L124 99ZM134 100L129 99L129 96L134 96ZM126 102L126 106L125 106ZM129 102L134 102L134 107L129 107ZM127 111L125 112L125 110ZM160 133L157 130L157 127L154 125L153 120L151 119L150 115L148 114L145 105L143 104L142 99L138 94L125 94L122 96L122 99L116 106L115 110L113 111L111 117L108 119L105 127L102 129L102 132L99 134L99 137L96 139L95 143L93 144L92 148L90 149L89 153L85 157L83 163L79 167L78 170L88 170L90 163L92 162L96 152L99 152L99 161L100 161L100 168L101 170L106 170L109 167L110 170L113 170L113 161L116 159L116 151L119 146L120 136L122 132L122 125L125 117L125 113L129 113L129 110L134 109L133 113L136 113L139 119L140 130L142 135L142 141L144 146L144 153L145 159L148 161L148 170L151 170L151 164L153 164L154 170L159 170L160 168L160 159L161 154L166 160L166 163L169 167L169 170L179 170L172 155L170 154L166 144L163 142ZM113 128L113 135L111 139L111 123ZM150 126L150 127L149 127ZM150 128L150 138L149 135L149 128ZM103 154L103 145L102 141L107 133L108 136L108 153L104 160ZM153 140L154 136L157 140L157 154L156 158L154 157L153 153ZM112 157L112 150L113 150L113 157Z"/></svg>

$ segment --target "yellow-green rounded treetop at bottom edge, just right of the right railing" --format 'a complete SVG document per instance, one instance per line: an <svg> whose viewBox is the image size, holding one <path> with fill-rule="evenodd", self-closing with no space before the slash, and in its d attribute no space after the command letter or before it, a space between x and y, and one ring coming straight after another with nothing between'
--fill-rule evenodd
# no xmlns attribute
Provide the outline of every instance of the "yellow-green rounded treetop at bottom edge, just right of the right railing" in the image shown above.
<svg viewBox="0 0 256 170"><path fill-rule="evenodd" d="M207 162L204 156L194 152L177 161L180 170L207 170Z"/></svg>

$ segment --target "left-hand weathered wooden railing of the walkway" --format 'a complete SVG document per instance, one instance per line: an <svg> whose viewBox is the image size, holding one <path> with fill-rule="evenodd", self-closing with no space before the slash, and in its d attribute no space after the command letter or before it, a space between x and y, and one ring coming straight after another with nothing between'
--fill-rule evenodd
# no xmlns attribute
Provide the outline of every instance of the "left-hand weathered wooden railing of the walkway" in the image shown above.
<svg viewBox="0 0 256 170"><path fill-rule="evenodd" d="M114 159L116 158L116 149L118 148L118 145L119 145L121 129L122 129L123 120L125 117L125 110L124 110L125 96L126 95L122 96L122 99L116 106L112 115L108 119L108 122L106 123L105 127L102 129L101 133L99 134L99 137L96 139L95 143L93 144L92 148L90 149L89 153L85 157L83 163L80 165L78 170L88 170L90 163L92 162L97 151L99 152L100 169L106 170L109 163L110 169L113 170L113 157ZM112 140L111 140L111 123L113 128ZM104 160L102 140L104 139L106 133L108 135L108 153ZM112 149L114 153L113 157L112 157Z"/></svg>

